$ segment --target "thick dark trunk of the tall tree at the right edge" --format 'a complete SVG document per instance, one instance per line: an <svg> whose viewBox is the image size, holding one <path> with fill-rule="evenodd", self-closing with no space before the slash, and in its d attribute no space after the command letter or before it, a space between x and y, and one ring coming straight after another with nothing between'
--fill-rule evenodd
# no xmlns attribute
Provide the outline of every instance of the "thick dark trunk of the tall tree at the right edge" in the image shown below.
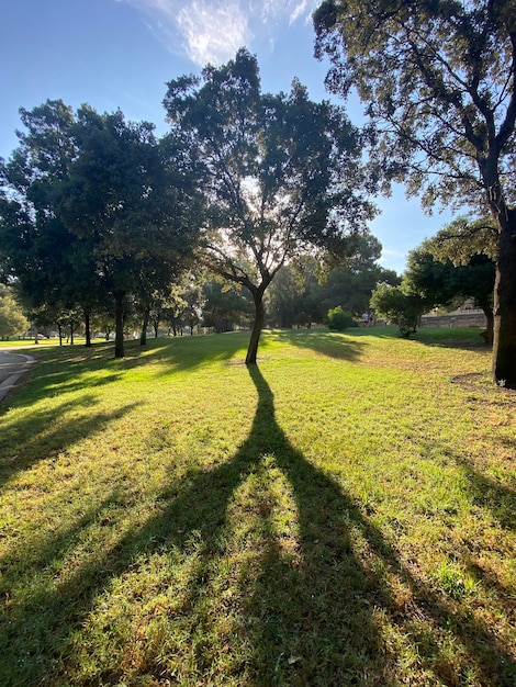
<svg viewBox="0 0 516 687"><path fill-rule="evenodd" d="M516 210L498 219L494 285L493 378L516 388Z"/></svg>

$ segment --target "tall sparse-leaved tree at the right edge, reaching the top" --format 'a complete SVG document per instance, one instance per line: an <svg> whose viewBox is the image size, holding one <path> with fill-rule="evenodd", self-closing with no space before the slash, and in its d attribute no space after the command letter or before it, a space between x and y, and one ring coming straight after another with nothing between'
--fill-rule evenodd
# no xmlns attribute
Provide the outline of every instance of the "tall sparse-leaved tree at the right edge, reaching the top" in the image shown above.
<svg viewBox="0 0 516 687"><path fill-rule="evenodd" d="M368 103L386 178L491 214L493 376L516 386L516 0L327 0L314 23L329 88Z"/></svg>

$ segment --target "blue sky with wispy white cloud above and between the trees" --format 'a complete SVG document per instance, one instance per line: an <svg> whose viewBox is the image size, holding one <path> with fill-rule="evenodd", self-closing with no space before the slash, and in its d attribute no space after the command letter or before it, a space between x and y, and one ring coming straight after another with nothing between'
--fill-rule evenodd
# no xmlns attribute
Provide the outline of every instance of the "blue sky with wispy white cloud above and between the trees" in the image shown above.
<svg viewBox="0 0 516 687"><path fill-rule="evenodd" d="M22 128L19 109L61 99L74 109L121 109L127 120L166 133L166 83L222 65L237 49L257 56L263 91L289 91L298 77L312 100L332 98L328 65L313 57L311 14L317 0L5 0L0 22L0 157L9 158ZM347 106L362 121L362 105ZM396 187L378 198L371 233L380 263L401 273L406 254L450 222L426 216Z"/></svg>

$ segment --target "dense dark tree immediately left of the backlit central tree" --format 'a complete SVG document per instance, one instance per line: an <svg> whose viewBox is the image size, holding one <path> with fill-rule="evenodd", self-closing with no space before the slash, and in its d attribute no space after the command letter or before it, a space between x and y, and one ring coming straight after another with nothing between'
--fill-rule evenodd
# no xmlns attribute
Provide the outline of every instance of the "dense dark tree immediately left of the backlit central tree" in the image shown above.
<svg viewBox="0 0 516 687"><path fill-rule="evenodd" d="M92 244L99 274L115 301L120 358L127 294L148 311L154 293L184 269L195 236L195 201L171 144L159 145L152 124L83 105L75 132L78 155L60 187L57 212Z"/></svg>

